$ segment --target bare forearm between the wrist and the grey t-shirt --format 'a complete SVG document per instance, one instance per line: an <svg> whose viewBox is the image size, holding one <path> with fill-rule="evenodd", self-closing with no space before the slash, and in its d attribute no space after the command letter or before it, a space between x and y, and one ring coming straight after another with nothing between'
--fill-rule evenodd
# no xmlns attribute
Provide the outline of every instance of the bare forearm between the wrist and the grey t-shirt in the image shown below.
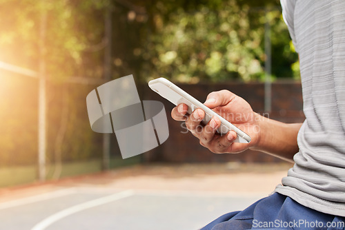
<svg viewBox="0 0 345 230"><path fill-rule="evenodd" d="M259 136L257 143L250 149L264 151L266 154L293 162L293 156L299 150L297 134L302 123L287 124L264 116L258 117L257 121Z"/></svg>

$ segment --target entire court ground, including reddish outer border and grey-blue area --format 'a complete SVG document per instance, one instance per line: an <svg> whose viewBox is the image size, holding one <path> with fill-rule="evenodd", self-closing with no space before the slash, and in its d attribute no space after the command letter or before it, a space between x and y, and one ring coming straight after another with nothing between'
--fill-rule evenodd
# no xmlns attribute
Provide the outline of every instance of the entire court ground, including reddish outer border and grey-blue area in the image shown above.
<svg viewBox="0 0 345 230"><path fill-rule="evenodd" d="M290 165L146 165L0 189L0 229L198 229L268 196Z"/></svg>

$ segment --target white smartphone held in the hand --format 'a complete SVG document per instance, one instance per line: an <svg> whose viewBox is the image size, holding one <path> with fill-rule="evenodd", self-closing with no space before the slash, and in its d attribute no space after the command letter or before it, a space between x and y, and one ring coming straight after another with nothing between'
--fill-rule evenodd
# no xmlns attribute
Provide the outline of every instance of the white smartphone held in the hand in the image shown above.
<svg viewBox="0 0 345 230"><path fill-rule="evenodd" d="M221 125L217 129L217 132L219 134L227 134L230 130L233 130L237 133L235 142L250 143L251 138L250 136L248 136L248 134L237 128L235 125L231 124L229 121L221 117L219 114L214 112L203 103L197 101L197 99L195 99L193 96L190 96L190 94L186 93L180 87L168 81L167 79L154 79L148 83L148 86L151 88L151 90L157 92L157 94L166 98L174 105L179 105L181 103L188 105L188 114L191 114L197 108L204 110L205 117L202 123L204 123L205 125L210 121L211 118L213 118L213 116L217 116L221 121Z"/></svg>

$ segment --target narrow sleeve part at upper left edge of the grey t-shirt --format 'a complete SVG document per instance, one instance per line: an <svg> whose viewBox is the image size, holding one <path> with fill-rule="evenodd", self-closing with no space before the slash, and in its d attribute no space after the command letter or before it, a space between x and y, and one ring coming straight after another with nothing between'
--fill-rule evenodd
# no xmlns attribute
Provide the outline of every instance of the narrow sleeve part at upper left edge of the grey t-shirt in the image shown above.
<svg viewBox="0 0 345 230"><path fill-rule="evenodd" d="M290 37L293 40L293 45L295 45L295 50L298 52L298 45L295 37L295 28L294 28L294 14L295 14L295 5L297 0L280 0L283 9L283 18L288 25L288 32Z"/></svg>

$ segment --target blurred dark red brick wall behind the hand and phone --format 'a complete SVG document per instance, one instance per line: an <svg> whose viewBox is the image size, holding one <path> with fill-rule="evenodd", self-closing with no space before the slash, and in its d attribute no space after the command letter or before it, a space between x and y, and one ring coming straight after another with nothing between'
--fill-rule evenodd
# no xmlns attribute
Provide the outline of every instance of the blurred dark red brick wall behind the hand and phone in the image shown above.
<svg viewBox="0 0 345 230"><path fill-rule="evenodd" d="M264 112L264 84L263 83L224 83L224 84L197 84L179 85L183 90L204 102L209 92L217 90L230 90L244 98L253 107L255 112ZM142 100L157 100L164 103L168 115L170 136L165 143L143 155L149 162L168 163L210 163L210 162L279 162L278 158L257 151L247 150L240 154L213 154L199 145L199 140L192 134L181 133L186 129L181 122L172 120L170 102L152 92L146 85L141 87ZM286 123L304 121L302 112L302 89L300 83L273 83L272 84L272 112L269 118Z"/></svg>

